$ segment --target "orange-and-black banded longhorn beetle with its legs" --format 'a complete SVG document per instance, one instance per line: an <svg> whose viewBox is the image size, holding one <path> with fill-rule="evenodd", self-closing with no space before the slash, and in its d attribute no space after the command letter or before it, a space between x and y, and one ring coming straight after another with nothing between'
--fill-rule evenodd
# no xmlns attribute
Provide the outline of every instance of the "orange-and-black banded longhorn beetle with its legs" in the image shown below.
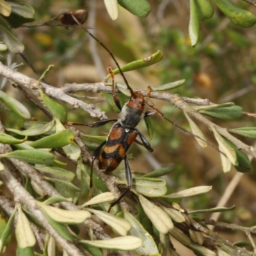
<svg viewBox="0 0 256 256"><path fill-rule="evenodd" d="M95 122L93 124L89 124L89 127L100 127L102 125L108 124L109 122L115 122L111 127L108 137L106 141L103 141L99 147L93 152L92 156L92 168L95 159L98 159L98 167L100 170L104 170L107 174L115 170L121 161L124 159L125 161L125 177L127 180L127 189L126 191L113 203L116 204L119 200L124 197L125 193L129 191L132 185L132 174L131 168L129 166L129 161L127 157L127 151L132 143L137 141L137 136L140 137L141 145L147 148L149 152L153 152L153 148L150 146L150 143L146 140L143 134L136 129L136 126L143 118L148 118L151 115L154 115L155 111L145 111L144 107L146 104L146 100L143 94L140 91L134 92L127 83L127 88L131 93L130 99L125 103L123 107L121 107L120 100L115 94L115 79L114 74L111 68L108 68L108 72L112 77L113 81L113 99L120 110L120 118L119 119L109 119L103 120L99 122ZM92 188L92 170L90 177L90 188ZM92 193L92 192L91 192ZM113 205L111 204L111 205Z"/></svg>

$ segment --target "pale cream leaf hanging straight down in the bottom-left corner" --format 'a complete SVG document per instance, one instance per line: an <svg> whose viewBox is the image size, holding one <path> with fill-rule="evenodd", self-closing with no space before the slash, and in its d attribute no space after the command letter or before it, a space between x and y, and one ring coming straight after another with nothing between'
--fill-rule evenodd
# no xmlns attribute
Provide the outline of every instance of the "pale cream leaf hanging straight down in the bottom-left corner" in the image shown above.
<svg viewBox="0 0 256 256"><path fill-rule="evenodd" d="M18 220L15 227L15 235L19 248L32 247L36 243L35 235L30 227L30 223L26 215L22 212L21 207L18 208Z"/></svg>

